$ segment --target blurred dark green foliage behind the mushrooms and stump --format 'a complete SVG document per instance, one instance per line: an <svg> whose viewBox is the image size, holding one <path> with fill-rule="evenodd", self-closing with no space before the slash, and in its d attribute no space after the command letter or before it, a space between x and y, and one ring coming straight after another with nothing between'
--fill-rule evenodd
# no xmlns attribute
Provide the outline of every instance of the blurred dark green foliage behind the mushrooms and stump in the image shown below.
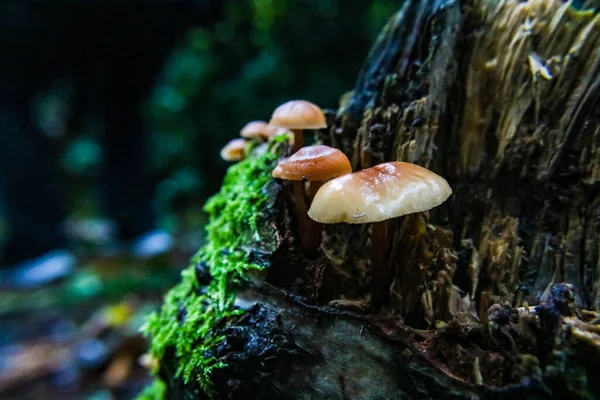
<svg viewBox="0 0 600 400"><path fill-rule="evenodd" d="M156 201L167 228L199 229L205 222L202 204L218 191L228 166L219 150L246 122L268 120L276 106L293 98L337 108L371 43L399 6L392 0L222 4L218 21L192 28L173 50L144 109L152 130ZM64 113L60 97L65 93L55 90L53 96L58 101L45 108ZM42 118L51 127L47 132L57 124L54 129L60 130L59 122L52 115ZM101 163L89 125L85 137L70 140L63 151L63 170L76 182L93 176ZM79 215L96 213L82 193L78 190L74 199Z"/></svg>

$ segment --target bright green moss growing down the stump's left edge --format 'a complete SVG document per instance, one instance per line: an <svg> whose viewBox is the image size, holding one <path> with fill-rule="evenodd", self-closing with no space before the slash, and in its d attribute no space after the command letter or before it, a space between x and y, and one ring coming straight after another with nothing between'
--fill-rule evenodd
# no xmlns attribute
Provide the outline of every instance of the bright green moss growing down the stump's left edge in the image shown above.
<svg viewBox="0 0 600 400"><path fill-rule="evenodd" d="M236 290L264 268L249 261L248 245L274 243L262 232L267 232L266 211L273 201L270 188L276 186L271 171L284 139L277 138L268 149L255 147L246 160L229 168L220 193L205 205L210 217L207 244L182 272L181 282L166 294L160 312L152 314L143 328L152 338L153 357L160 360L167 348L174 348L175 376L185 382L196 380L205 391L210 391L211 373L224 366L211 356L210 349L223 340L214 327L241 312L233 307ZM207 263L212 276L202 293L194 272L199 261Z"/></svg>

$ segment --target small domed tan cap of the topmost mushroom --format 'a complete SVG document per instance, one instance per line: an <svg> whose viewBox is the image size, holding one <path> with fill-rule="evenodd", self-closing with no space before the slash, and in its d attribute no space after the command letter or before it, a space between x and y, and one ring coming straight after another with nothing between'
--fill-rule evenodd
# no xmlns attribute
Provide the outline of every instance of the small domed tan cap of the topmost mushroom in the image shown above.
<svg viewBox="0 0 600 400"><path fill-rule="evenodd" d="M327 128L323 110L306 100L292 100L277 107L269 125L287 129Z"/></svg>

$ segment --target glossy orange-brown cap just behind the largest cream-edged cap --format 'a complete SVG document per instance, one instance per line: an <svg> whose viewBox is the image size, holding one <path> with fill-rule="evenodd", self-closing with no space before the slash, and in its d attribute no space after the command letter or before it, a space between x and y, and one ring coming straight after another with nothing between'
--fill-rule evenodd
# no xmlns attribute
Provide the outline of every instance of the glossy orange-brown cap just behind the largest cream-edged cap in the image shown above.
<svg viewBox="0 0 600 400"><path fill-rule="evenodd" d="M279 161L273 177L288 181L325 181L352 172L348 157L325 145L306 146Z"/></svg>

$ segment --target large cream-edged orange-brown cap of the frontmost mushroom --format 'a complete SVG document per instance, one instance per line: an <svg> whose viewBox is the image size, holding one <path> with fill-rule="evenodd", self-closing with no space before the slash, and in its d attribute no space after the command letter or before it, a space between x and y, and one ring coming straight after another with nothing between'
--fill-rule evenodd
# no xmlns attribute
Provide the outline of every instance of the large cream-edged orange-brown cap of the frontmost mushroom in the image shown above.
<svg viewBox="0 0 600 400"><path fill-rule="evenodd" d="M451 194L448 182L428 169L389 162L325 183L308 216L324 224L379 222L429 210Z"/></svg>

